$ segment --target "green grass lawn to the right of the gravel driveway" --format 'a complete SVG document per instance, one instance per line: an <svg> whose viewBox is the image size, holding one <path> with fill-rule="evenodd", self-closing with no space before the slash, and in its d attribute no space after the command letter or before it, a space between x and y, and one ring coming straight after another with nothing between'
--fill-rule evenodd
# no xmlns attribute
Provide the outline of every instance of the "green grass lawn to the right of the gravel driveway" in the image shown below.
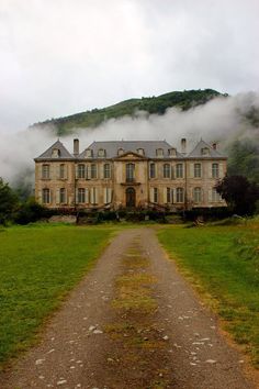
<svg viewBox="0 0 259 389"><path fill-rule="evenodd" d="M168 226L158 237L259 368L259 221Z"/></svg>

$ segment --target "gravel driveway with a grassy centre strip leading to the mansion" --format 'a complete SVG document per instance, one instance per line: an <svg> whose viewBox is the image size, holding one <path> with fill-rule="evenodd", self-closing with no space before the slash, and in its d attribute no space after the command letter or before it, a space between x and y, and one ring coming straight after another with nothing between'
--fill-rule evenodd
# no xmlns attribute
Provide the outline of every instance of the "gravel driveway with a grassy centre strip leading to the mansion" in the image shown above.
<svg viewBox="0 0 259 389"><path fill-rule="evenodd" d="M123 231L0 388L248 389L151 229Z"/></svg>

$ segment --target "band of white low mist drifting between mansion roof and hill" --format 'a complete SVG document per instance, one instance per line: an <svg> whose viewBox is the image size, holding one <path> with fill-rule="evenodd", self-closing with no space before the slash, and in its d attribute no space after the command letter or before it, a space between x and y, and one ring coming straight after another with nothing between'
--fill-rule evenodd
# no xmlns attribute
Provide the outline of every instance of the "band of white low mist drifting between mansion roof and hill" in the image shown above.
<svg viewBox="0 0 259 389"><path fill-rule="evenodd" d="M134 116L111 119L98 129L76 129L75 134L61 137L72 152L72 138L79 137L80 149L93 141L113 140L167 140L180 146L181 137L188 140L189 151L201 137L218 142L224 151L234 140L252 137L259 144L259 95L240 93L235 97L216 98L188 111L168 109L164 115L135 112ZM15 181L34 180L33 158L48 148L57 136L53 129L29 129L15 134L2 134L0 144L0 177L11 185Z"/></svg>

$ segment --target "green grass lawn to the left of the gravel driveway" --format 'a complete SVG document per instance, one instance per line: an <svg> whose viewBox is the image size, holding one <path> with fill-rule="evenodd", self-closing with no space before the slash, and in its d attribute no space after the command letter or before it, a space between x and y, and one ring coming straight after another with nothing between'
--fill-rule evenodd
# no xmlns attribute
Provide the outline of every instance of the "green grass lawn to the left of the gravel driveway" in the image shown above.
<svg viewBox="0 0 259 389"><path fill-rule="evenodd" d="M0 230L0 366L32 344L82 278L113 227L34 225Z"/></svg>

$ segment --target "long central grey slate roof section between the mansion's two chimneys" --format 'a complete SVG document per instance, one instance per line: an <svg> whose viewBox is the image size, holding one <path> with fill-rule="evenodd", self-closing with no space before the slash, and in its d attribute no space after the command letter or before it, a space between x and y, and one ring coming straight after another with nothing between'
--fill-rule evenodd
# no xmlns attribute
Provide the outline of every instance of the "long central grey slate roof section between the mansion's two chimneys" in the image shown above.
<svg viewBox="0 0 259 389"><path fill-rule="evenodd" d="M157 148L164 149L164 158L168 157L168 149L172 146L166 141L108 141L108 142L93 142L88 149L92 149L93 158L98 157L98 151L100 148L105 149L106 158L117 157L119 148L123 148L125 153L133 152L137 153L137 148L144 148L145 157L147 158L159 158L156 155ZM85 158L86 149L79 155L79 158ZM183 157L177 152L177 157Z"/></svg>

